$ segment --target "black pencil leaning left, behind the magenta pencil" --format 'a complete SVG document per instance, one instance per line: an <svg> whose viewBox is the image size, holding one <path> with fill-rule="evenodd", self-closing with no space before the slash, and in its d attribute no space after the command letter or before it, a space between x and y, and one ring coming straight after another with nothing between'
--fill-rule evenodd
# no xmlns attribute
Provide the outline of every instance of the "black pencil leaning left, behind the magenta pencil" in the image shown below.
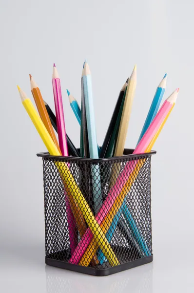
<svg viewBox="0 0 194 293"><path fill-rule="evenodd" d="M58 133L56 116L53 113L50 106L45 101L44 101L44 105L45 105L46 110L48 112L51 124L54 127L55 131ZM67 146L68 146L69 155L73 156L73 157L80 157L80 154L79 154L76 146L74 146L74 144L72 143L71 139L69 138L69 136L67 134L66 134L66 136L67 136Z"/></svg>

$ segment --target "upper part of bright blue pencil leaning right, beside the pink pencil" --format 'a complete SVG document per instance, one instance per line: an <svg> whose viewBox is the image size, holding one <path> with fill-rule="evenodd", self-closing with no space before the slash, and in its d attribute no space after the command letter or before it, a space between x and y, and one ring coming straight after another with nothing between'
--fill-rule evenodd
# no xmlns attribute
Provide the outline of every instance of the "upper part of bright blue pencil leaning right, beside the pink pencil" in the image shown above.
<svg viewBox="0 0 194 293"><path fill-rule="evenodd" d="M162 97L165 92L166 80L167 80L167 73L165 74L165 76L163 77L162 81L160 82L160 84L158 85L158 87L156 89L155 96L152 101L152 105L150 106L150 110L149 110L148 115L146 117L144 126L141 130L141 134L139 136L137 145L140 142L140 140L142 139L142 137L143 137L144 133L146 132L146 130L148 129L148 127L150 126L151 122L155 118L155 115L157 114L159 105L161 103Z"/></svg>

